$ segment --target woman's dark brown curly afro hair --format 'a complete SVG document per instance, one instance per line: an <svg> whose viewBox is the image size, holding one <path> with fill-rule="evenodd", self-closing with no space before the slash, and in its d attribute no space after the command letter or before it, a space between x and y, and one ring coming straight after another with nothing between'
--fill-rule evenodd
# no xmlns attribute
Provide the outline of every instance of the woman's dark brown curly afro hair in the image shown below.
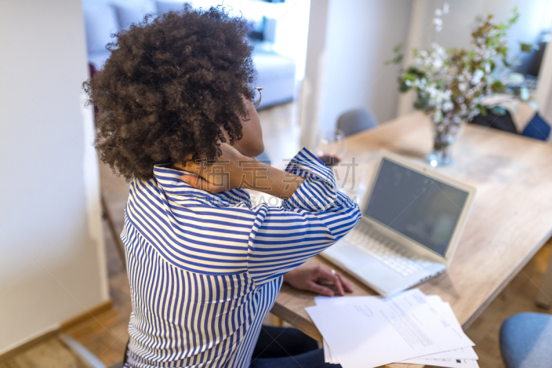
<svg viewBox="0 0 552 368"><path fill-rule="evenodd" d="M255 78L248 23L224 8L146 15L108 45L103 69L83 83L97 107L95 146L127 180L185 157L214 159L242 139Z"/></svg>

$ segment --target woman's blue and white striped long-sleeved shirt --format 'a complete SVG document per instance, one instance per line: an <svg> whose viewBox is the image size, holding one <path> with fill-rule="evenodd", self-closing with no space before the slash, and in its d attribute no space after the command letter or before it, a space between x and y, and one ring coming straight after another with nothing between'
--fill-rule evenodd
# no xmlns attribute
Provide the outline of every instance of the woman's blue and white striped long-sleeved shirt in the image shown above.
<svg viewBox="0 0 552 368"><path fill-rule="evenodd" d="M196 190L170 165L132 181L121 233L132 297L125 367L250 365L282 275L360 218L308 150L286 172L306 180L280 207L252 207L244 190Z"/></svg>

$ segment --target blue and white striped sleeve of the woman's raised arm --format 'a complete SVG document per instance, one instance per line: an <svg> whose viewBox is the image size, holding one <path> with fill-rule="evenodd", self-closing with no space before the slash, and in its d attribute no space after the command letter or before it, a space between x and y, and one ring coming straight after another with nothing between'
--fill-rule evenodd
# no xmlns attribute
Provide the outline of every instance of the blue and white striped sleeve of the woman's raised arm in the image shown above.
<svg viewBox="0 0 552 368"><path fill-rule="evenodd" d="M266 283L302 265L347 234L359 221L356 203L337 192L331 168L303 148L286 172L306 180L281 207L256 207L248 272Z"/></svg>

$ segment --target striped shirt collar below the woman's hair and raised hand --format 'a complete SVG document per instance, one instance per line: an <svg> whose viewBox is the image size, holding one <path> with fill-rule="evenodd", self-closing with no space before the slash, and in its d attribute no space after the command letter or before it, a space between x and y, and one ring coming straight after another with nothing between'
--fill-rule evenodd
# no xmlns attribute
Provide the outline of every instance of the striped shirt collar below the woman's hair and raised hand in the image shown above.
<svg viewBox="0 0 552 368"><path fill-rule="evenodd" d="M221 205L232 205L237 203L245 203L251 207L249 193L242 189L233 189L219 194L211 194L204 190L198 190L184 183L180 176L184 174L192 174L184 170L173 169L172 164L164 163L153 167L153 176L161 189L168 196L197 196L206 198L210 201L215 201Z"/></svg>

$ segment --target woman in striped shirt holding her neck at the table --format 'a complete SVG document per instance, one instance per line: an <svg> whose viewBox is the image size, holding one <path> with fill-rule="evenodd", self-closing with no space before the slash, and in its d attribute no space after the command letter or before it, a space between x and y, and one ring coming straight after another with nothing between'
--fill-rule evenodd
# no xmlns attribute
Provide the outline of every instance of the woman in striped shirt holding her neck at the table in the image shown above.
<svg viewBox="0 0 552 368"><path fill-rule="evenodd" d="M132 296L125 367L325 367L295 329L262 327L282 282L351 285L298 267L359 219L333 172L303 149L285 172L251 103L246 22L219 8L146 16L117 34L85 83L101 159L132 181L121 234ZM252 207L245 188L279 196ZM335 366L333 366L335 367Z"/></svg>

